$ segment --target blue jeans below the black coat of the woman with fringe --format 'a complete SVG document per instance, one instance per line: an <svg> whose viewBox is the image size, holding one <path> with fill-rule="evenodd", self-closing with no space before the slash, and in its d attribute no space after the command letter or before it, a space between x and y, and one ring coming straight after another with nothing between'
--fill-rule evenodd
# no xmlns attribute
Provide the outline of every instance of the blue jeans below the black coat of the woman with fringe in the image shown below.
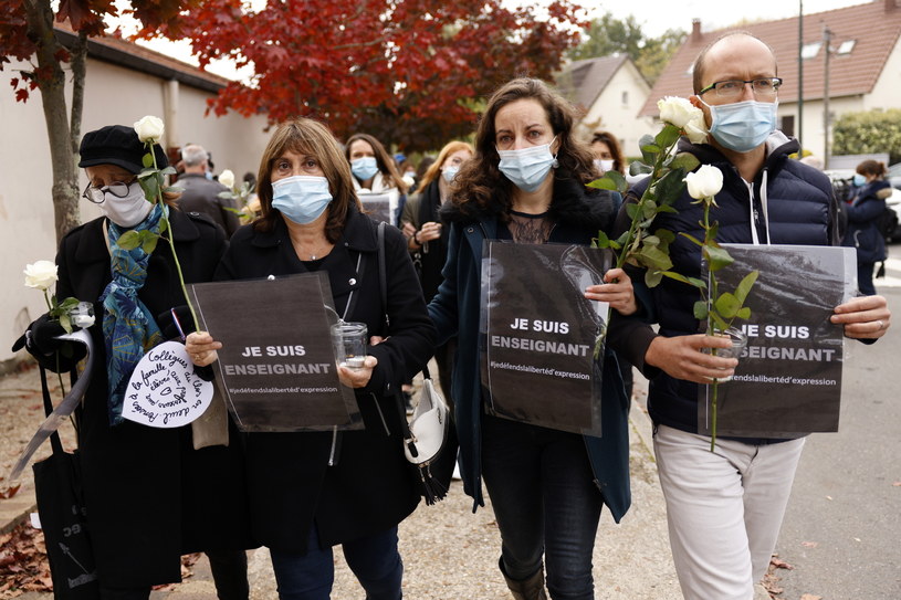
<svg viewBox="0 0 901 600"><path fill-rule="evenodd" d="M335 582L332 548L319 548L315 525L306 554L270 548L281 600L328 600ZM397 527L342 544L347 566L357 576L367 600L400 600L404 562L397 551Z"/></svg>

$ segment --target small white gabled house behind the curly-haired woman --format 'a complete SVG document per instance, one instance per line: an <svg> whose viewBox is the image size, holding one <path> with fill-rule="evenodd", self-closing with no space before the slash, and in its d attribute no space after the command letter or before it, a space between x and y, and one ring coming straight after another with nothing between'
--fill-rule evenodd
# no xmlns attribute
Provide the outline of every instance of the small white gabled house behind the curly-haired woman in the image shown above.
<svg viewBox="0 0 901 600"><path fill-rule="evenodd" d="M576 61L557 76L557 85L585 112L579 133L590 138L596 130L614 134L626 156L640 156L638 140L651 130L651 116L639 116L650 85L626 54Z"/></svg>

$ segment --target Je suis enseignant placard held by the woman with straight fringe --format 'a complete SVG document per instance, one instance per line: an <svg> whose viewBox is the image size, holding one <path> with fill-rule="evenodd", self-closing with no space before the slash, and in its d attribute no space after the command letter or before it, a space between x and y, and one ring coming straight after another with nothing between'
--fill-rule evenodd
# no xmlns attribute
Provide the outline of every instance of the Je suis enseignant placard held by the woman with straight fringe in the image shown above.
<svg viewBox="0 0 901 600"><path fill-rule="evenodd" d="M189 286L201 327L222 343L218 383L243 431L362 429L338 381L323 272Z"/></svg>

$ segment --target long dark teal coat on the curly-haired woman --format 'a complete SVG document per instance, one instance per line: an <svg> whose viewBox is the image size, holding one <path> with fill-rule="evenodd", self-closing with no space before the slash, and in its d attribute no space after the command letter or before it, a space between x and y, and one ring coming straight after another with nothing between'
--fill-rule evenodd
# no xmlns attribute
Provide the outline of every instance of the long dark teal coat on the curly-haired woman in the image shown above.
<svg viewBox="0 0 901 600"><path fill-rule="evenodd" d="M586 193L588 192L588 193ZM548 242L589 244L598 229L608 230L614 219L614 194L589 190L574 180L557 173L549 219L556 223ZM482 243L497 239L499 213L475 211L469 214L442 210L442 217L451 222L448 261L444 282L438 295L429 304L429 315L438 328L438 343L458 336L453 370L453 391L457 431L460 440L460 457L465 493L473 497L473 509L484 505L481 470L481 418L482 387L480 377L479 314ZM614 318L608 346L621 341ZM631 355L629 355L631 356ZM585 436L585 445L595 483L619 522L629 508L629 399L611 351L604 362L601 419L603 438ZM553 399L548 399L553 401Z"/></svg>

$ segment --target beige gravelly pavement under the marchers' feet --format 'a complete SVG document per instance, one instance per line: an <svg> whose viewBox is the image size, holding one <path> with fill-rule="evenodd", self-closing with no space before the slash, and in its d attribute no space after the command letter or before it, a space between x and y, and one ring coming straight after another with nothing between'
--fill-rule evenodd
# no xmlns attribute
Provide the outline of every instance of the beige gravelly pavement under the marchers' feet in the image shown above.
<svg viewBox="0 0 901 600"><path fill-rule="evenodd" d="M678 600L679 583L670 557L663 497L650 450L650 421L641 408L646 381L636 378L631 411L632 507L617 525L609 512L601 514L594 554L596 598L621 600ZM0 474L6 476L21 448L42 420L36 369L0 379ZM66 436L64 436L65 439ZM71 435L69 436L71 442ZM49 449L39 451L45 455ZM27 518L33 508L30 471L22 491L0 501L0 534ZM0 482L2 485L3 482ZM419 508L400 524L404 556L404 594L413 600L509 599L497 571L500 537L490 504L472 514L472 499L454 482L448 497ZM216 591L206 559L192 567L193 575L151 600L214 600ZM251 598L277 598L265 548L250 552ZM363 598L339 551L335 556L336 600ZM50 593L28 592L23 600L46 600Z"/></svg>

